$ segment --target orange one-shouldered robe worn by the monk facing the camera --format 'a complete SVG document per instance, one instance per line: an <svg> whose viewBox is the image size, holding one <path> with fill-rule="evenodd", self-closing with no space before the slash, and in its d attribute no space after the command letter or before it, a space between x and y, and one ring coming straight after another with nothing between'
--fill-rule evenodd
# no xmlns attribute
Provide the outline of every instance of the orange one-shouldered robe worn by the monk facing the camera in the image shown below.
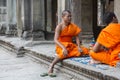
<svg viewBox="0 0 120 80"><path fill-rule="evenodd" d="M72 37L78 35L80 31L81 29L73 23L70 23L61 31L59 41L66 47L68 55L64 56L62 48L56 45L56 53L60 59L78 57L81 55L78 51L77 45L72 42Z"/></svg>

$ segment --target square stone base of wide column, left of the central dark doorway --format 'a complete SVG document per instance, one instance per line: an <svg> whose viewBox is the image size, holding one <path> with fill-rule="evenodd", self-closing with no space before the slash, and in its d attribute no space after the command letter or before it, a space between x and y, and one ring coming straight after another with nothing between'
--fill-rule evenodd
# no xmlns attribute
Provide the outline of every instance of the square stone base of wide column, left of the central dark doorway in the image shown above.
<svg viewBox="0 0 120 80"><path fill-rule="evenodd" d="M32 40L38 41L38 40L45 40L45 35L43 31L34 31L32 33Z"/></svg>

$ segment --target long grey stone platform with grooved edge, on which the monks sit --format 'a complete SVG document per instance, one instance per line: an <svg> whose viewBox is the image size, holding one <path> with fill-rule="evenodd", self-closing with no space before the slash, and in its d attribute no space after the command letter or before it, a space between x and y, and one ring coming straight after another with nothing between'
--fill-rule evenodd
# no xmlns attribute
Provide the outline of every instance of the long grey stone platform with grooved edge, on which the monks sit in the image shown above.
<svg viewBox="0 0 120 80"><path fill-rule="evenodd" d="M88 43L83 44L88 47ZM17 37L0 36L0 45L14 52L23 47L25 55L48 65L55 56L53 41L25 41ZM55 68L78 78L84 76L90 80L120 80L120 69L105 64L90 65L89 60L89 56L70 58L62 62L62 67L58 64Z"/></svg>

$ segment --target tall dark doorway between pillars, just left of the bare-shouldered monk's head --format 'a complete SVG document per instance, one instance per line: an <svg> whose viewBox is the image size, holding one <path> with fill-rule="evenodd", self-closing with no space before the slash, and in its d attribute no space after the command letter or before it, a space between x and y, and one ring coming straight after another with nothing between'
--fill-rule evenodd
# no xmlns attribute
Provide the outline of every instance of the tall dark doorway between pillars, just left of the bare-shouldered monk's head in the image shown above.
<svg viewBox="0 0 120 80"><path fill-rule="evenodd" d="M53 40L55 28L57 25L57 0L45 0L45 25L45 39Z"/></svg>

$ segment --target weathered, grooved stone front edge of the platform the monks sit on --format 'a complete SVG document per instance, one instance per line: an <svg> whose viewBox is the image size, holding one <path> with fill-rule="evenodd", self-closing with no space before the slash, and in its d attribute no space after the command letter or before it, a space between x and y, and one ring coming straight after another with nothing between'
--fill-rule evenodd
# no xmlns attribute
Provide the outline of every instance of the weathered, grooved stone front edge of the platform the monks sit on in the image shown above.
<svg viewBox="0 0 120 80"><path fill-rule="evenodd" d="M16 49L17 49L16 46L11 44L10 42L0 40L0 44L3 47L9 49L10 51L16 52ZM40 58L42 60L45 60L47 62L51 62L53 60L53 57L43 55L43 54L40 54L40 53L35 52L35 51L31 51L30 49L24 49L24 50L25 50L26 53L28 53L30 55L33 55L33 56L35 56L37 58ZM88 68L86 68L84 66L73 65L72 62L70 62L69 60L65 60L63 62L63 67L65 69L71 70L71 71L73 71L75 73L78 73L78 74L83 75L85 77L88 77L90 79L119 80L117 77L110 76L110 75L107 75L107 74L103 74L103 73L101 73L99 71L88 69Z"/></svg>

